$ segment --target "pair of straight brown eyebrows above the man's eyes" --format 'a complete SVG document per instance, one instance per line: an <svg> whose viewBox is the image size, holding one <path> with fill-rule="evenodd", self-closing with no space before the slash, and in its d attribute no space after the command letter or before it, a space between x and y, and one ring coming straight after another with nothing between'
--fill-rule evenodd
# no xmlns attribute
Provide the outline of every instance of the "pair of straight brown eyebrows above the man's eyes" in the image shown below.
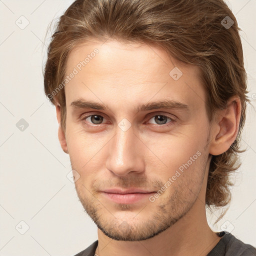
<svg viewBox="0 0 256 256"><path fill-rule="evenodd" d="M93 102L93 101L87 101L81 98L72 101L70 105L73 108L93 108L93 109L99 109L99 110L107 109L111 111L111 109L105 104ZM134 107L134 111L139 112L139 111L147 111L147 110L158 109L158 108L168 108L168 109L175 108L175 109L185 109L185 110L189 109L188 105L184 103L174 101L174 100L164 99L160 101L153 101L145 104L140 104Z"/></svg>

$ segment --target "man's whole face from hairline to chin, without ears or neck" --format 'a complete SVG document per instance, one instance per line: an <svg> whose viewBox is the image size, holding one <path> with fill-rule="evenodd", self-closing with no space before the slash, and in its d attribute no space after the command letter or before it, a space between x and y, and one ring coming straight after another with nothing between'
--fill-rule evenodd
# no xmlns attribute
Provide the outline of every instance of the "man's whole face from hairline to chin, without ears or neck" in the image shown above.
<svg viewBox="0 0 256 256"><path fill-rule="evenodd" d="M98 53L91 54L94 48ZM66 75L71 72L65 139L80 175L78 197L109 237L153 237L189 211L202 187L209 123L199 68L152 45L107 40L71 51ZM85 108L83 101L107 108ZM148 107L159 101L172 103Z"/></svg>

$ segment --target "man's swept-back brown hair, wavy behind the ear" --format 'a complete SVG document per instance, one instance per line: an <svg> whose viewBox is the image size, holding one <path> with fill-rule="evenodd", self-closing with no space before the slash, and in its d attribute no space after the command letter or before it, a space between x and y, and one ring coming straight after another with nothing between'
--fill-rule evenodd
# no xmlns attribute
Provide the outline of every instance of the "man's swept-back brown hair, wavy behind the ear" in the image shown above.
<svg viewBox="0 0 256 256"><path fill-rule="evenodd" d="M226 152L212 156L207 181L206 205L225 206L231 198L228 174L240 166L237 153L242 152L238 148L248 101L239 30L223 0L76 0L60 17L48 46L45 94L60 104L65 131L64 89L55 97L51 93L64 79L70 50L92 38L157 44L176 59L199 66L209 121L231 96L241 100L238 135Z"/></svg>

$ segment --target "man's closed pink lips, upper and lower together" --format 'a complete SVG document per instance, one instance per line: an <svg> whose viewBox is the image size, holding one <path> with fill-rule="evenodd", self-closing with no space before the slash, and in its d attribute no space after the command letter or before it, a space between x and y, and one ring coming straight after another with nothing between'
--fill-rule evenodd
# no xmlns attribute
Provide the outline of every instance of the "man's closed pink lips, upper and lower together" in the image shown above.
<svg viewBox="0 0 256 256"><path fill-rule="evenodd" d="M111 188L101 191L107 199L117 203L135 203L140 200L148 199L155 191L148 191L139 188L119 189Z"/></svg>

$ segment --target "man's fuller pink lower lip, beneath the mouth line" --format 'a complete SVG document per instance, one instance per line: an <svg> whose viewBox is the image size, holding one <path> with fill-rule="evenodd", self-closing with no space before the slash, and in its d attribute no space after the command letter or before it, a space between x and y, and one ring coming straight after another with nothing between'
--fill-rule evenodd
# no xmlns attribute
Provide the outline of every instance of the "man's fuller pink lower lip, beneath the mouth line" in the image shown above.
<svg viewBox="0 0 256 256"><path fill-rule="evenodd" d="M102 194L110 199L111 201L117 203L134 203L140 200L148 199L148 197L155 192L151 193L132 193L132 194L114 194L114 193L106 193L102 192Z"/></svg>

